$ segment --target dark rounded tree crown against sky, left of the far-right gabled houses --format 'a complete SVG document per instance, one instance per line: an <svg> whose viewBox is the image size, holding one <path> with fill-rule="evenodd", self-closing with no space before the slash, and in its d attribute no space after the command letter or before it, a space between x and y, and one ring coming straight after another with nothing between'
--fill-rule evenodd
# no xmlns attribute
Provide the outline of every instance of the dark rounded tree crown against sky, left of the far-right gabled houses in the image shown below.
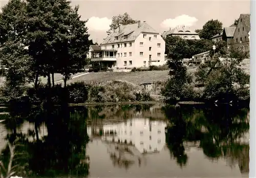
<svg viewBox="0 0 256 178"><path fill-rule="evenodd" d="M221 33L222 23L218 19L211 19L205 23L203 29L197 29L196 32L199 33L199 37L203 39L210 39L212 36Z"/></svg>

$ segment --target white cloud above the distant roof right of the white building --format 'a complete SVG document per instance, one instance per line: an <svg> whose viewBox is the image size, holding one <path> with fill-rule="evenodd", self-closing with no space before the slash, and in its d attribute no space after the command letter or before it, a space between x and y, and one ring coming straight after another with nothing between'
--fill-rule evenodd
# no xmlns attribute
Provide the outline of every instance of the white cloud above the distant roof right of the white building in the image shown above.
<svg viewBox="0 0 256 178"><path fill-rule="evenodd" d="M161 27L163 28L169 28L169 27L177 27L177 26L193 26L196 22L198 21L198 19L196 17L190 17L188 15L180 15L175 17L174 19L172 18L167 18L165 20L162 21L161 23Z"/></svg>

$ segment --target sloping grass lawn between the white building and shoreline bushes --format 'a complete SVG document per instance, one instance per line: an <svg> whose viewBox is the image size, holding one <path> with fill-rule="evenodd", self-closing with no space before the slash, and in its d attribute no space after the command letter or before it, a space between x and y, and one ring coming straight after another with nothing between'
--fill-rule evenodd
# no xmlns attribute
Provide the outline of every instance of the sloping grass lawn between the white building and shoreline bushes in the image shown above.
<svg viewBox="0 0 256 178"><path fill-rule="evenodd" d="M90 82L105 82L109 80L122 80L140 85L142 83L150 83L168 78L169 71L144 71L144 72L97 72L89 73L77 78L73 78L67 82L74 83L77 81ZM58 82L63 83L63 82Z"/></svg>

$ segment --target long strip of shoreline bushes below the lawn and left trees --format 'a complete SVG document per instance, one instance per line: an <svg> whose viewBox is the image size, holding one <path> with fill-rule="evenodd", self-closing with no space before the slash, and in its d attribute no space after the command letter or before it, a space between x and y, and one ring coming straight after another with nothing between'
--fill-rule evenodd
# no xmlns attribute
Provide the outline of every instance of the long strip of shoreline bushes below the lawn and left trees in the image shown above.
<svg viewBox="0 0 256 178"><path fill-rule="evenodd" d="M16 88L17 95L8 95L10 88L2 88L2 101L8 103L13 100L29 100L31 103L45 103L47 100L55 104L62 103L121 103L121 102L148 102L155 101L149 92L137 85L125 81L107 81L86 84L75 82L62 87L57 84L54 87L40 84L34 87Z"/></svg>

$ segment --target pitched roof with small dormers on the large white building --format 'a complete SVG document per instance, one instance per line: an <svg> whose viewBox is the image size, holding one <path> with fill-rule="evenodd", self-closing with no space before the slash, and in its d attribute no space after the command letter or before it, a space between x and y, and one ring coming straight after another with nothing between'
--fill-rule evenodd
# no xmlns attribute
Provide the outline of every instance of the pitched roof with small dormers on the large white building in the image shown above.
<svg viewBox="0 0 256 178"><path fill-rule="evenodd" d="M109 34L109 36L106 37L101 44L134 41L142 32L159 34L156 30L154 30L150 25L145 22L140 23L139 28L138 23L120 26L119 28L115 29L111 34ZM127 35L126 39L124 38L124 35ZM117 40L115 39L116 36L118 36Z"/></svg>

